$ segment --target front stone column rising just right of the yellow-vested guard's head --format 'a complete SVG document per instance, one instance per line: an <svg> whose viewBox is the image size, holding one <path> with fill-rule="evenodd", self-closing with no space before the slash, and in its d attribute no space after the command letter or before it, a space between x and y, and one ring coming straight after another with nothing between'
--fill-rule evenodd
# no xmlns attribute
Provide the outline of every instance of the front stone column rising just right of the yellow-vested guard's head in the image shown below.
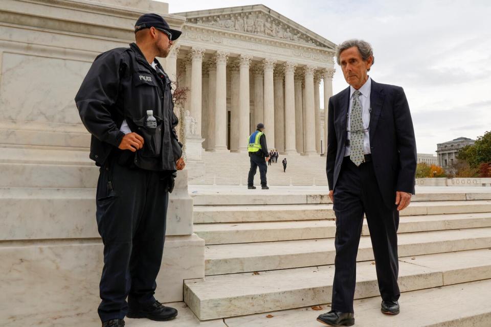
<svg viewBox="0 0 491 327"><path fill-rule="evenodd" d="M273 71L276 60L264 59L264 127L268 149L275 148L275 101Z"/></svg>

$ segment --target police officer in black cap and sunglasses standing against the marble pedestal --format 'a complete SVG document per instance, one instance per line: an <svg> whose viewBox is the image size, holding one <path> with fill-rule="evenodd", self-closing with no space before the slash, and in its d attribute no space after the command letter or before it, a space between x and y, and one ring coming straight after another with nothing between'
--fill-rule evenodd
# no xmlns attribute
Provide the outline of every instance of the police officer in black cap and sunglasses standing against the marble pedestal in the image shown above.
<svg viewBox="0 0 491 327"><path fill-rule="evenodd" d="M168 193L176 171L185 166L170 80L155 57L166 57L180 35L160 15L144 14L135 26L136 43L99 55L75 97L92 134L90 157L100 167L96 219L104 243L98 309L103 327L124 326L125 316L159 321L177 316L153 296Z"/></svg>

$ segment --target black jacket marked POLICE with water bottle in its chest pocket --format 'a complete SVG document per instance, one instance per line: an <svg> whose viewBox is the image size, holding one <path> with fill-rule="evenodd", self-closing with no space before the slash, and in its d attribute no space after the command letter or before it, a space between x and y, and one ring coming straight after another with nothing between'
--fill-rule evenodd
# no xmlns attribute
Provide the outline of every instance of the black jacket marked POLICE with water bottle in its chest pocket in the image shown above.
<svg viewBox="0 0 491 327"><path fill-rule="evenodd" d="M102 166L109 153L121 143L119 130L126 120L132 132L140 134L143 149L133 156L135 165L148 170L176 171L181 157L173 112L170 79L157 63L147 62L136 43L100 54L93 62L75 102L83 125L92 134L90 157ZM146 111L153 110L158 128L145 129ZM128 151L129 150L125 150Z"/></svg>

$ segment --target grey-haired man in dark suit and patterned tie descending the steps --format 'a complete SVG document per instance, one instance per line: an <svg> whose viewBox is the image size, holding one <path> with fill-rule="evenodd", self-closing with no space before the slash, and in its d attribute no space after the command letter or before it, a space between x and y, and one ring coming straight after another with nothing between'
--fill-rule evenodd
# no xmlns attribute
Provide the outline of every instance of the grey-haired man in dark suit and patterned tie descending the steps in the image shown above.
<svg viewBox="0 0 491 327"><path fill-rule="evenodd" d="M336 214L336 259L330 326L354 324L356 253L363 215L372 241L382 312L399 313L397 228L399 211L414 194L416 142L409 105L399 86L373 81L371 45L348 40L336 57L350 85L329 99L327 180Z"/></svg>

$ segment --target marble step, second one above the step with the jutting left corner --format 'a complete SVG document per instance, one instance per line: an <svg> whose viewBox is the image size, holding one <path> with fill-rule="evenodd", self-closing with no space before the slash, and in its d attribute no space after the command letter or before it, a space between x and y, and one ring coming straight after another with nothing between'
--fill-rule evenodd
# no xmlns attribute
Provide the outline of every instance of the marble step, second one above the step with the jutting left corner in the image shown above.
<svg viewBox="0 0 491 327"><path fill-rule="evenodd" d="M491 213L403 216L400 218L398 232L476 227L491 227ZM322 239L334 237L336 222L305 220L194 224L194 232L204 239L207 245ZM366 220L363 223L362 235L369 235Z"/></svg>

